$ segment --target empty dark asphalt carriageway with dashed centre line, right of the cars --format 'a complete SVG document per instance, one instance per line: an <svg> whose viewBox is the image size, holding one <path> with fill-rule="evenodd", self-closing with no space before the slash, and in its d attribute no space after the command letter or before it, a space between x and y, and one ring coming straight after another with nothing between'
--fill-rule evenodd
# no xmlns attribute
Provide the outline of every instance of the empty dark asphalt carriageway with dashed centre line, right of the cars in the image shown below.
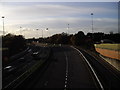
<svg viewBox="0 0 120 90"><path fill-rule="evenodd" d="M52 47L52 58L19 88L98 88L100 86L83 56L74 48Z"/></svg>

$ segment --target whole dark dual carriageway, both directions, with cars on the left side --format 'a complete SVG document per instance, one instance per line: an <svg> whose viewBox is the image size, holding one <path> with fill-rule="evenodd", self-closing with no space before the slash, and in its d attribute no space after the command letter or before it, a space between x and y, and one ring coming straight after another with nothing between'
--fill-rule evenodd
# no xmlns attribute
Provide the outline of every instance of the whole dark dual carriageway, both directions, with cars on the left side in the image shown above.
<svg viewBox="0 0 120 90"><path fill-rule="evenodd" d="M6 67L11 71L5 70ZM6 67L3 89L120 88L119 71L99 57L73 46L31 46L27 54Z"/></svg>

